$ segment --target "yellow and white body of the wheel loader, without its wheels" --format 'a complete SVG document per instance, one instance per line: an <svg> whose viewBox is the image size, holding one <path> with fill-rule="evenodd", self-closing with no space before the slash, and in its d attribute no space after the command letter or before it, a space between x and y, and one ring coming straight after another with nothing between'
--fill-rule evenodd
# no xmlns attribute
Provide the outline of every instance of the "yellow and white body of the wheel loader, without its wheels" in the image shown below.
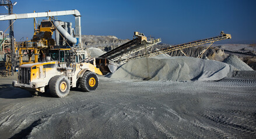
<svg viewBox="0 0 256 139"><path fill-rule="evenodd" d="M45 63L31 63L19 66L17 81L13 81L14 87L21 87L30 92L45 92L51 78L56 75L64 75L69 79L71 87L76 87L76 82L86 71L92 71L95 74L103 75L95 64L76 63L72 68L62 67L58 61L49 61Z"/></svg>

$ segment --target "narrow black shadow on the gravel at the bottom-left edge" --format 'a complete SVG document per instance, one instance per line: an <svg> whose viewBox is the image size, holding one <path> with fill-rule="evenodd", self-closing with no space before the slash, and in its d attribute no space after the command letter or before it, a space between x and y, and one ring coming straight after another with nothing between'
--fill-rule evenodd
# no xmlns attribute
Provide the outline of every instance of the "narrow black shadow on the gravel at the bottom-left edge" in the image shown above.
<svg viewBox="0 0 256 139"><path fill-rule="evenodd" d="M41 119L36 120L29 127L27 127L26 129L23 129L22 131L20 131L19 133L15 134L10 138L27 138L27 136L29 136L33 128L40 124L41 124Z"/></svg>

